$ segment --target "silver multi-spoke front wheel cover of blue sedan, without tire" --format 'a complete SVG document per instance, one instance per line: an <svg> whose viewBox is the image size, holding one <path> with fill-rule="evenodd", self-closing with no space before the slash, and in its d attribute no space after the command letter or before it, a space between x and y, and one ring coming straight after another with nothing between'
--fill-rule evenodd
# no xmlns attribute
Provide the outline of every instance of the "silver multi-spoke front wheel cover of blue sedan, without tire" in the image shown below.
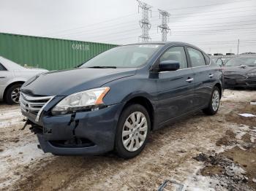
<svg viewBox="0 0 256 191"><path fill-rule="evenodd" d="M122 143L129 152L143 145L148 131L148 122L142 112L133 112L127 117L122 130Z"/></svg>

